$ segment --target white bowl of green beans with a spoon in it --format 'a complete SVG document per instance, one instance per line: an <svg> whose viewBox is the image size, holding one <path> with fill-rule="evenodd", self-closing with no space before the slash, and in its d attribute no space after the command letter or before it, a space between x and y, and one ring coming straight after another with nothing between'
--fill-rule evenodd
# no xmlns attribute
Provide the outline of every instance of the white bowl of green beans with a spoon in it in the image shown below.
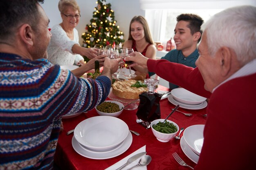
<svg viewBox="0 0 256 170"><path fill-rule="evenodd" d="M179 126L171 120L163 121L164 119L157 119L151 122L151 130L157 140L169 142L179 131Z"/></svg>

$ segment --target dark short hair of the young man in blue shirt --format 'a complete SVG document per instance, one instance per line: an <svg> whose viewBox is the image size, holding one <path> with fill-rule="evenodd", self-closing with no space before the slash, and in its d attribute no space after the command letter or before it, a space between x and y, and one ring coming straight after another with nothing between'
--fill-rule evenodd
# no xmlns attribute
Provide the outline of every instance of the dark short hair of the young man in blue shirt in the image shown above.
<svg viewBox="0 0 256 170"><path fill-rule="evenodd" d="M192 13L183 13L177 16L177 22L179 21L187 21L189 22L189 29L191 32L191 35L193 35L196 32L200 32L201 35L203 31L201 30L201 25L204 23L204 20L196 14ZM198 42L200 41L201 37L198 39Z"/></svg>

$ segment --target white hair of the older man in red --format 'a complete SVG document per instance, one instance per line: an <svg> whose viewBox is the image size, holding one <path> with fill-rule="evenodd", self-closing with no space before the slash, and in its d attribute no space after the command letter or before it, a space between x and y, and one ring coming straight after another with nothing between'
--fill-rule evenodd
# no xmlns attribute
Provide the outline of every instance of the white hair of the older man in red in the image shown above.
<svg viewBox="0 0 256 170"><path fill-rule="evenodd" d="M256 7L239 6L217 13L202 25L207 34L209 54L226 46L245 65L256 59Z"/></svg>

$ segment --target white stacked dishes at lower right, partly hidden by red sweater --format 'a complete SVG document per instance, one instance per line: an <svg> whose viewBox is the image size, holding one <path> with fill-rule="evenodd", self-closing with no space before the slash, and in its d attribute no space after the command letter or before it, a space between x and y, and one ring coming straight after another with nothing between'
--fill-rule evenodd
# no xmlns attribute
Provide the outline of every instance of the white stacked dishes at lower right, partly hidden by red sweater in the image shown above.
<svg viewBox="0 0 256 170"><path fill-rule="evenodd" d="M204 125L197 124L185 129L180 140L180 146L189 159L198 163L198 159L204 143Z"/></svg>

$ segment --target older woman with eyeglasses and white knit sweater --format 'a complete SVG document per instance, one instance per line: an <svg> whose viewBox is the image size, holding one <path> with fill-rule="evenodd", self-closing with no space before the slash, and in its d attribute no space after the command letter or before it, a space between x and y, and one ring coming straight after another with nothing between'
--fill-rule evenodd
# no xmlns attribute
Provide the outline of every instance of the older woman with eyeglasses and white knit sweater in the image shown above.
<svg viewBox="0 0 256 170"><path fill-rule="evenodd" d="M80 20L80 8L76 0L60 0L58 9L62 22L52 27L52 38L47 48L48 59L58 65L84 65L86 56L89 59L97 57L92 48L79 45L79 35L76 26Z"/></svg>

